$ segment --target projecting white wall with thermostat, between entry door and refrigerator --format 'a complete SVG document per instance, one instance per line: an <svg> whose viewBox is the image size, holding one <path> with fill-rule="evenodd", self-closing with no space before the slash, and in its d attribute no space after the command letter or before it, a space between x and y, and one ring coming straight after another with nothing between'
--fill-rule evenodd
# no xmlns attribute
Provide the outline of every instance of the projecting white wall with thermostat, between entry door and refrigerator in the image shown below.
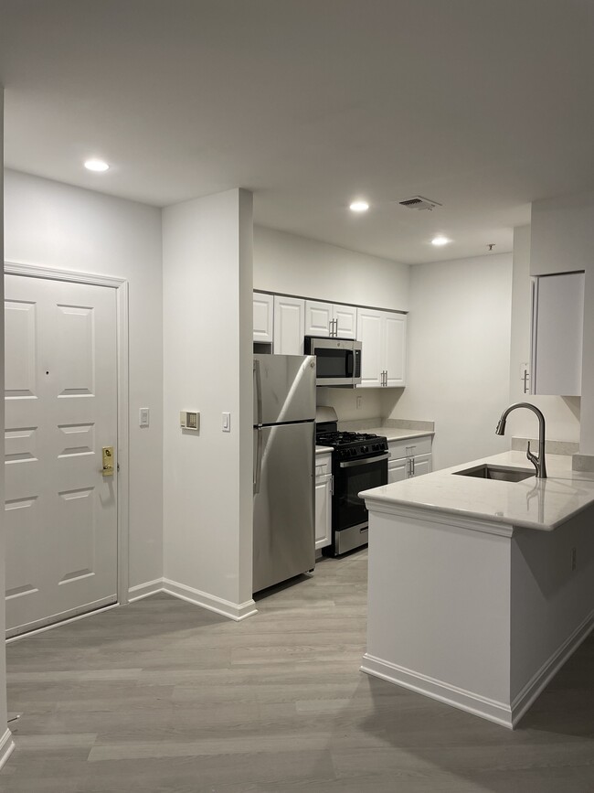
<svg viewBox="0 0 594 793"><path fill-rule="evenodd" d="M240 617L251 603L251 195L167 207L163 234L165 586ZM181 410L200 412L199 433L180 430Z"/></svg>

